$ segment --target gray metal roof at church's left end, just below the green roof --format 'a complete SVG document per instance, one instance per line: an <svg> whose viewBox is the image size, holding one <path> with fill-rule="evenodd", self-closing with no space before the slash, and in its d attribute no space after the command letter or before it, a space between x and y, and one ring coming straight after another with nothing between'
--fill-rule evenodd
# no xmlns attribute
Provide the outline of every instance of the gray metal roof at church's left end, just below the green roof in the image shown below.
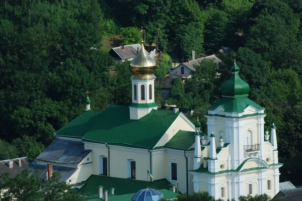
<svg viewBox="0 0 302 201"><path fill-rule="evenodd" d="M84 143L57 138L36 160L78 165L92 150L84 149Z"/></svg>

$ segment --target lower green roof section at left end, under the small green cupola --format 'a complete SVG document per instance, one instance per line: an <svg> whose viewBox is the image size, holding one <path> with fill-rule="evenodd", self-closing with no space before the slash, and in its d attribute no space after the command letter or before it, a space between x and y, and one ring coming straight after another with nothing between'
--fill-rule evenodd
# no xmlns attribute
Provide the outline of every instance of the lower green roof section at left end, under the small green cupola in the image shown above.
<svg viewBox="0 0 302 201"><path fill-rule="evenodd" d="M103 111L89 110L82 113L77 118L63 126L55 134L57 136L82 138L87 131L94 125Z"/></svg>

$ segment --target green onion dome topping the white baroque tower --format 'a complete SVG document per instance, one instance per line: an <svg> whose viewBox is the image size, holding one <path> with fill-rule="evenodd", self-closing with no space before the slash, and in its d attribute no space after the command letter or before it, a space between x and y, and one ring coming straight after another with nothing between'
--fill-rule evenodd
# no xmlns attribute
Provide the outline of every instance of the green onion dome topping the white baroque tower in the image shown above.
<svg viewBox="0 0 302 201"><path fill-rule="evenodd" d="M232 66L232 76L221 84L222 96L248 96L250 86L247 82L242 80L238 74L239 67L234 63Z"/></svg>

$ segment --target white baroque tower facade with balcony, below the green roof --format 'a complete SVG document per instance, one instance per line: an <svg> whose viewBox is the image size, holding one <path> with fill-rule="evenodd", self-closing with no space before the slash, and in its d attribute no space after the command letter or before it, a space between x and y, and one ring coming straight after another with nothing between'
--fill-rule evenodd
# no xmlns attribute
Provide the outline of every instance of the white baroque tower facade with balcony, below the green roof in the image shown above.
<svg viewBox="0 0 302 201"><path fill-rule="evenodd" d="M237 200L240 195L266 193L273 197L277 194L282 164L278 163L274 146L264 141L264 110L249 106L244 113L224 113L223 108L218 107L208 111L205 117L210 145L202 151L202 171L191 171L194 191L208 191L224 200ZM210 137L211 132L216 137ZM273 135L275 129L271 133ZM217 144L220 136L225 144L218 153L217 149L213 153L212 144Z"/></svg>

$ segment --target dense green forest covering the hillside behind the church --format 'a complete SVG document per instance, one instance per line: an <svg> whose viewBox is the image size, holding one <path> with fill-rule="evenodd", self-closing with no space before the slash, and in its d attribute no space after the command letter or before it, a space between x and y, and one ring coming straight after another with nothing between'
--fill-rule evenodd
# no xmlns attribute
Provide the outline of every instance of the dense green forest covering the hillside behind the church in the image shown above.
<svg viewBox="0 0 302 201"><path fill-rule="evenodd" d="M299 1L4 0L0 6L0 159L37 156L56 130L85 110L87 90L94 110L128 105L129 63L110 71L108 50L145 38L162 52L158 77L173 55L185 61L192 50L212 54L231 47L249 97L266 109L266 128L278 128L281 181L302 184ZM234 62L232 54L219 57L219 66L202 61L185 85L176 79L167 99L157 86L156 102L199 111L192 120L202 116L220 98Z"/></svg>

